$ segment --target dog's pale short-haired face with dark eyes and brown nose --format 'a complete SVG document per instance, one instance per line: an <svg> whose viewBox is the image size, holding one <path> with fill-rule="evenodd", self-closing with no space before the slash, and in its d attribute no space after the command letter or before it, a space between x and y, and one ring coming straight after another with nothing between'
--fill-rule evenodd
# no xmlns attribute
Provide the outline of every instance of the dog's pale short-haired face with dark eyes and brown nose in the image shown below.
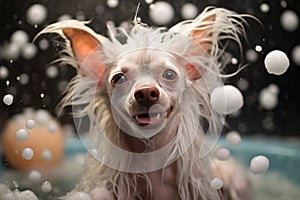
<svg viewBox="0 0 300 200"><path fill-rule="evenodd" d="M112 63L107 90L121 130L149 138L173 120L186 84L180 65L171 53L147 48Z"/></svg>

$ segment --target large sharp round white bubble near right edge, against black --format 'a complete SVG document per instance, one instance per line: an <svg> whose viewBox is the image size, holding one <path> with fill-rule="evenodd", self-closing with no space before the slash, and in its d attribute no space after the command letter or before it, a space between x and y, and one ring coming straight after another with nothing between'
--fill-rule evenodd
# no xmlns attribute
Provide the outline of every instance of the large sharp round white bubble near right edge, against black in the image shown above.
<svg viewBox="0 0 300 200"><path fill-rule="evenodd" d="M284 52L273 50L265 57L264 64L268 73L281 75L287 71L290 61Z"/></svg>

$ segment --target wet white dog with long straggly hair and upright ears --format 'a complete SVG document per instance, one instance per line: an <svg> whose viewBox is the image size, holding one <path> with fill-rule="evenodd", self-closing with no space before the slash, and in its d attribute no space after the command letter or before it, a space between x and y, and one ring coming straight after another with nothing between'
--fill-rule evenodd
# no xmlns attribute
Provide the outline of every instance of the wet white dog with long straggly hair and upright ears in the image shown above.
<svg viewBox="0 0 300 200"><path fill-rule="evenodd" d="M64 39L58 60L78 72L60 106L88 119L89 152L69 196L250 198L247 179L237 175L242 170L216 161L209 140L218 138L224 121L212 109L210 91L222 85L224 42L240 44L244 17L208 7L170 29L148 27L135 17L130 30L109 26L108 38L77 20L40 32ZM223 178L224 186L213 188L214 177Z"/></svg>

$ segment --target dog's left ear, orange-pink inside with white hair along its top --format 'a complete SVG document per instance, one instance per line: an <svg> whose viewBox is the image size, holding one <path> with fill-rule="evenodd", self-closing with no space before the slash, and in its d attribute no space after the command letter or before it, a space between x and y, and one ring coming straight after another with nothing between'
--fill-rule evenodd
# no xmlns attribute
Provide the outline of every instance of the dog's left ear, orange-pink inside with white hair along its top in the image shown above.
<svg viewBox="0 0 300 200"><path fill-rule="evenodd" d="M103 43L108 39L96 34L85 22L67 20L46 27L38 35L45 33L58 33L65 39L66 52L70 54L76 63L70 63L77 68L78 73L102 79L107 68Z"/></svg>

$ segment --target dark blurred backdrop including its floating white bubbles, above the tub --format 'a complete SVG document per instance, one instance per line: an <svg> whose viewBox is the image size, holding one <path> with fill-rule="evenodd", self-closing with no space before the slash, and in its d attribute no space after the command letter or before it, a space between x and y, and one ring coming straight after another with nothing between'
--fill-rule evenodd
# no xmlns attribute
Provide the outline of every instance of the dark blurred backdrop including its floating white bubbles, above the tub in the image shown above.
<svg viewBox="0 0 300 200"><path fill-rule="evenodd" d="M227 117L225 131L236 130L243 136L300 135L300 1L297 0L0 0L0 134L7 120L26 107L46 109L63 125L73 123L70 110L57 116L55 108L75 70L51 64L61 49L53 37L42 36L30 43L39 31L51 23L74 18L92 20L89 26L106 35L106 23L126 27L133 20L138 3L138 16L149 26L170 27L195 17L207 6L255 16L261 24L251 18L247 20L243 55L235 46L229 46L229 53L223 58L228 62L228 72L240 64L249 64L237 76L226 80L240 88L245 105L239 113ZM34 4L40 7L34 10L31 7ZM23 36L14 34L18 30ZM14 46L18 38L25 38L25 47ZM279 76L269 74L264 67L265 56L274 49L285 52L290 60L288 70Z"/></svg>

